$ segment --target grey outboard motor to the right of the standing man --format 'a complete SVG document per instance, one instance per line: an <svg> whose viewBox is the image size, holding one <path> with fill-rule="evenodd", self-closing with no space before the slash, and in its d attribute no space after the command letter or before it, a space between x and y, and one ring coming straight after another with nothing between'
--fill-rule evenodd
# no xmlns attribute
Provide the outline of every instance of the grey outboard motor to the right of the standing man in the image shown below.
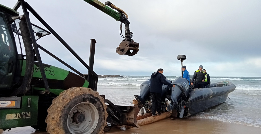
<svg viewBox="0 0 261 134"><path fill-rule="evenodd" d="M171 88L171 95L167 95L165 102L167 104L166 110L172 113L173 109L177 109L178 101L186 101L189 96L189 81L185 78L177 78L172 84L175 84L175 88Z"/></svg>

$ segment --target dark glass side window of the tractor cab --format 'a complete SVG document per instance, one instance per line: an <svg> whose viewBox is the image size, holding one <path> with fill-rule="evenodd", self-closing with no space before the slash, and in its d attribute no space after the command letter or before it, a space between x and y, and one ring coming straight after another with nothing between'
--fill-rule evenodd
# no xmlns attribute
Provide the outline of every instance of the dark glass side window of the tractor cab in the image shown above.
<svg viewBox="0 0 261 134"><path fill-rule="evenodd" d="M5 14L0 11L0 88L10 88L16 62L13 40Z"/></svg>

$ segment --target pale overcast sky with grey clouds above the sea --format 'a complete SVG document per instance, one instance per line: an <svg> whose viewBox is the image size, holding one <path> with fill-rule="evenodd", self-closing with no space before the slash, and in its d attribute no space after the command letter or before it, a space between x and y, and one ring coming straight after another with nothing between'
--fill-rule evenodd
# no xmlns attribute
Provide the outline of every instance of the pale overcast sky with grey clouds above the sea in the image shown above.
<svg viewBox="0 0 261 134"><path fill-rule="evenodd" d="M0 1L10 8L17 2ZM181 76L177 56L186 55L183 65L190 75L203 65L210 76L261 77L260 0L111 0L129 16L132 39L139 43L134 56L116 53L123 40L120 22L85 1L27 2L87 64L90 39L97 41L97 74L149 76L163 68L163 75ZM21 8L18 12L23 14ZM43 27L33 16L31 22ZM43 37L37 43L81 73L88 72L54 36ZM40 52L44 63L68 70Z"/></svg>

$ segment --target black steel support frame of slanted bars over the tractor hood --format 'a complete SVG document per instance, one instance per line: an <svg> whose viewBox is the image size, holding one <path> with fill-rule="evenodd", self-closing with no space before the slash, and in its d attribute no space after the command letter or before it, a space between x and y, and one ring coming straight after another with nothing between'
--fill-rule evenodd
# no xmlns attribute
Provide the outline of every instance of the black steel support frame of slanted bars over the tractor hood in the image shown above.
<svg viewBox="0 0 261 134"><path fill-rule="evenodd" d="M81 59L81 57L79 55L77 55L77 53L75 51L73 51L73 49L43 20L43 18L41 18L41 16L39 16L39 14L37 14L37 12L35 12L35 10L33 10L33 8L27 2L25 2L24 0L21 0L20 3L21 3L21 6L23 8L23 12L25 14L25 17L26 17L26 22L27 22L27 26L28 26L29 31L30 31L30 36L31 36L32 43L33 43L33 46L34 46L36 58L37 58L37 61L39 63L39 68L40 68L41 75L42 75L44 85L45 85L45 89L46 89L45 92L49 93L50 89L49 89L49 86L48 86L47 78L46 78L46 75L45 75L45 72L44 72L43 63L41 61L41 57L40 57L40 53L39 53L38 48L40 48L41 50L43 50L44 52L46 52L47 54L49 54L50 56L52 56L53 58L55 58L56 60L58 60L59 62L61 62L65 66L67 66L68 68L70 68L71 70L75 71L80 76L85 77L85 79L89 82L89 87L92 88L94 91L96 91L97 90L98 75L93 71L95 43L96 43L95 39L91 40L90 60L89 60L90 66L88 66L86 64L86 62L84 62L84 60ZM17 7L18 6L15 6L14 8L17 8ZM30 23L30 19L29 19L29 13L28 13L27 9L66 47L66 49L68 49L88 69L88 76L84 76L79 71L77 71L76 69L74 69L73 67L71 67L70 65L68 65L67 63L65 63L64 61L62 61L61 59L59 59L58 57L56 57L55 55L53 55L52 53L50 53L49 51L44 49L42 46L40 46L39 44L36 43L35 36L34 36L32 26L31 26L31 23Z"/></svg>

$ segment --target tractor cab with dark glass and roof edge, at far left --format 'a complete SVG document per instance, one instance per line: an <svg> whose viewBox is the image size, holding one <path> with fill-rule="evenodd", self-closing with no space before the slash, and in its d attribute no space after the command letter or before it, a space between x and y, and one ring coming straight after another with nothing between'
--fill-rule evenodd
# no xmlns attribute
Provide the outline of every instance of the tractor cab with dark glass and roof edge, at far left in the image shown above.
<svg viewBox="0 0 261 134"><path fill-rule="evenodd" d="M0 5L0 91L10 89L13 85L17 50L8 18L18 14L10 8Z"/></svg>

